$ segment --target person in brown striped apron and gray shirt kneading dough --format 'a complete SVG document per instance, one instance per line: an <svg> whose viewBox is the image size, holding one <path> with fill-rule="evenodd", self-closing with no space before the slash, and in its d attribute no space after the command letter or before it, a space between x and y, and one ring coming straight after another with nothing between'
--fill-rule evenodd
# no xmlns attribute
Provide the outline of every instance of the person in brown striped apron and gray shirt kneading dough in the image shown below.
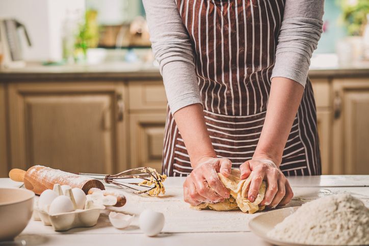
<svg viewBox="0 0 369 246"><path fill-rule="evenodd" d="M163 172L192 205L229 197L217 173L262 180L261 204L293 197L285 176L321 174L307 71L323 0L144 0L169 108Z"/></svg>

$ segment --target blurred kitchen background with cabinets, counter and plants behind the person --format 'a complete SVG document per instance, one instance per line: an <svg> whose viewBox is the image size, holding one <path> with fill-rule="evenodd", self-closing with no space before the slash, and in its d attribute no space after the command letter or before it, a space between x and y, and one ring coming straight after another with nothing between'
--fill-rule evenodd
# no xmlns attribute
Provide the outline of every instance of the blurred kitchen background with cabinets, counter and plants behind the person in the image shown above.
<svg viewBox="0 0 369 246"><path fill-rule="evenodd" d="M323 174L369 174L369 1L326 0L309 71ZM139 0L0 0L0 177L161 170L167 101Z"/></svg>

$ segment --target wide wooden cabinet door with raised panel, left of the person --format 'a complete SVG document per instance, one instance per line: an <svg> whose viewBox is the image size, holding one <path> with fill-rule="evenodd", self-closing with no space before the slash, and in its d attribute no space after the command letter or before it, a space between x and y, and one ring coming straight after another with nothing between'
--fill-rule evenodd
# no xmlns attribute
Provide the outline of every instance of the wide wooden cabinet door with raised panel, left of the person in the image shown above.
<svg viewBox="0 0 369 246"><path fill-rule="evenodd" d="M123 85L109 83L9 85L12 168L124 169L124 127L117 117L123 94Z"/></svg>

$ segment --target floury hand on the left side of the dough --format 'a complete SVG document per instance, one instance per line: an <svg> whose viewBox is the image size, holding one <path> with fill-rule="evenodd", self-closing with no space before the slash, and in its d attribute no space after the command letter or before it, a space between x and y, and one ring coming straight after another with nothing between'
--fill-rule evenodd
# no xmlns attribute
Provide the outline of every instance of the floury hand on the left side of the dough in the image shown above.
<svg viewBox="0 0 369 246"><path fill-rule="evenodd" d="M216 203L229 198L229 191L218 173L228 177L231 166L231 161L226 158L202 158L183 183L184 201L196 206L202 202Z"/></svg>

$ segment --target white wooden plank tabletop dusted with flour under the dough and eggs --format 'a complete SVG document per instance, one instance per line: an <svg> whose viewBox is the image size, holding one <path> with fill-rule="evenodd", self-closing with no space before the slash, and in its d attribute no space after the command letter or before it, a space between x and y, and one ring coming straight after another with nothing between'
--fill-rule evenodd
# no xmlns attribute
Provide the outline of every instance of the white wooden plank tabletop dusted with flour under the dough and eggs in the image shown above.
<svg viewBox="0 0 369 246"><path fill-rule="evenodd" d="M288 206L341 193L350 193L369 207L369 175L322 175L288 178L295 197ZM127 194L127 204L120 211L139 214L152 208L165 214L163 233L156 237L145 236L138 227L138 216L133 225L118 230L111 226L107 216L100 216L91 228L76 228L55 232L50 226L31 221L16 238L27 245L270 245L250 232L248 222L256 214L240 211L197 211L183 202L182 177L169 177L165 181L166 196L139 197ZM0 187L19 187L21 183L0 179ZM107 187L113 188L113 187ZM1 245L1 244L0 244Z"/></svg>

